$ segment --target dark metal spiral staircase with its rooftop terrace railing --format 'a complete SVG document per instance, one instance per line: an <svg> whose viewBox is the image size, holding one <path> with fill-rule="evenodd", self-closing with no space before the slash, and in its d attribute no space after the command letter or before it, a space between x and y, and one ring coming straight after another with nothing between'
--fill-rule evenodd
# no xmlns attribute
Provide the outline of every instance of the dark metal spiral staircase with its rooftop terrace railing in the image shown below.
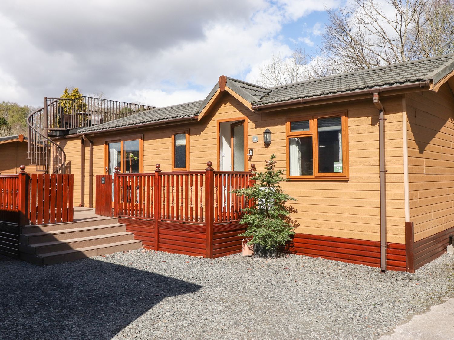
<svg viewBox="0 0 454 340"><path fill-rule="evenodd" d="M152 106L117 102L94 97L48 98L44 107L27 118L28 151L30 165L48 174L66 172L64 150L53 140L55 137L75 133L77 129L128 117L153 109Z"/></svg>

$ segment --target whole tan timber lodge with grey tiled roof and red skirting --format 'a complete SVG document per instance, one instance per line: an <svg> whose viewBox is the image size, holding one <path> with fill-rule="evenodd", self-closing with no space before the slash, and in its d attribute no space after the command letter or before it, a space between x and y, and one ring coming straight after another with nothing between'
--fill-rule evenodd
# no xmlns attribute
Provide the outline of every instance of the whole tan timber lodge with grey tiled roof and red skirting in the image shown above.
<svg viewBox="0 0 454 340"><path fill-rule="evenodd" d="M117 116L113 110L109 119L79 115L84 126L76 128L60 114L59 120L49 118L49 126L58 121L60 127L49 127L46 137L64 153L64 162L55 161L61 155L50 157L48 171L64 166L60 171L74 175L74 205L92 207L98 201L94 175L110 178L115 167L119 176L155 170L190 176L204 172L211 161L217 188L216 174L246 172L251 164L260 171L274 153L277 168L291 179L281 186L297 199L291 215L296 234L286 251L413 272L440 256L454 235L453 75L454 54L270 88L221 76L197 102L141 107L134 114L123 109ZM130 188L150 181L144 176L143 182L120 185L129 192L117 194L118 204L134 195ZM178 217L183 189L176 178L173 184L169 175L159 190L167 192L172 216L175 195ZM194 184L190 180L192 207L192 190L201 192L202 184L197 175ZM188 195L188 186L185 190ZM135 193L136 202L150 205L145 196L139 198L141 192ZM218 206L225 205L225 198L217 197L215 222ZM194 201L196 211L201 204ZM232 245L239 245L239 227L229 229L223 241L216 243L215 237L208 254L205 241L198 243L203 237L196 235L197 223L188 222L197 217L188 219L186 213L186 222L172 234L170 222L135 216L121 221L149 248L207 257L241 249ZM227 230L227 222L215 226L214 234ZM167 241L161 234L155 239L158 224L167 228ZM169 239L173 248L165 246ZM216 252L222 242L224 251Z"/></svg>

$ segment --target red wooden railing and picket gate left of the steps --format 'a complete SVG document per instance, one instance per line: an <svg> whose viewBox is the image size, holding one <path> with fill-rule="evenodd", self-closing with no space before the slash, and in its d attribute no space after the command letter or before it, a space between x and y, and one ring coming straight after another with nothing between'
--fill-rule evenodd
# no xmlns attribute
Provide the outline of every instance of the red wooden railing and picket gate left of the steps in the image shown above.
<svg viewBox="0 0 454 340"><path fill-rule="evenodd" d="M73 175L0 175L0 222L49 224L73 221Z"/></svg>

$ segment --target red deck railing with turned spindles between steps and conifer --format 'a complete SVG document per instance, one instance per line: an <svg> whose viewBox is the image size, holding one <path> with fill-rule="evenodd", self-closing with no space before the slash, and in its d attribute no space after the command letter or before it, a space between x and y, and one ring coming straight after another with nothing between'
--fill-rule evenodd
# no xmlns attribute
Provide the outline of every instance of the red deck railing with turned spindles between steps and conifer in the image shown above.
<svg viewBox="0 0 454 340"><path fill-rule="evenodd" d="M230 193L252 185L251 171L205 171L114 174L114 214L117 217L206 225L242 218L246 199ZM212 216L208 218L208 216Z"/></svg>

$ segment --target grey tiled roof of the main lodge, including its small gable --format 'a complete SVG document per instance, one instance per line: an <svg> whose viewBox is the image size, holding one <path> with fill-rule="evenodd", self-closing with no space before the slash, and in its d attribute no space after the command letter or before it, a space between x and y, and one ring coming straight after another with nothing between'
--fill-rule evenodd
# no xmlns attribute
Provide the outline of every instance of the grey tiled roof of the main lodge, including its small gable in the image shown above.
<svg viewBox="0 0 454 340"><path fill-rule="evenodd" d="M430 80L433 84L454 70L454 54L420 59L405 63L343 73L336 76L306 80L276 87L262 87L242 80L227 78L226 86L252 105L288 102L295 99L319 97L328 94L346 93L390 87L393 85L418 83ZM175 118L197 116L217 92L219 84L204 100L169 107L154 108L130 117L82 128L78 133L112 130L119 127L139 126L151 122L168 121Z"/></svg>

